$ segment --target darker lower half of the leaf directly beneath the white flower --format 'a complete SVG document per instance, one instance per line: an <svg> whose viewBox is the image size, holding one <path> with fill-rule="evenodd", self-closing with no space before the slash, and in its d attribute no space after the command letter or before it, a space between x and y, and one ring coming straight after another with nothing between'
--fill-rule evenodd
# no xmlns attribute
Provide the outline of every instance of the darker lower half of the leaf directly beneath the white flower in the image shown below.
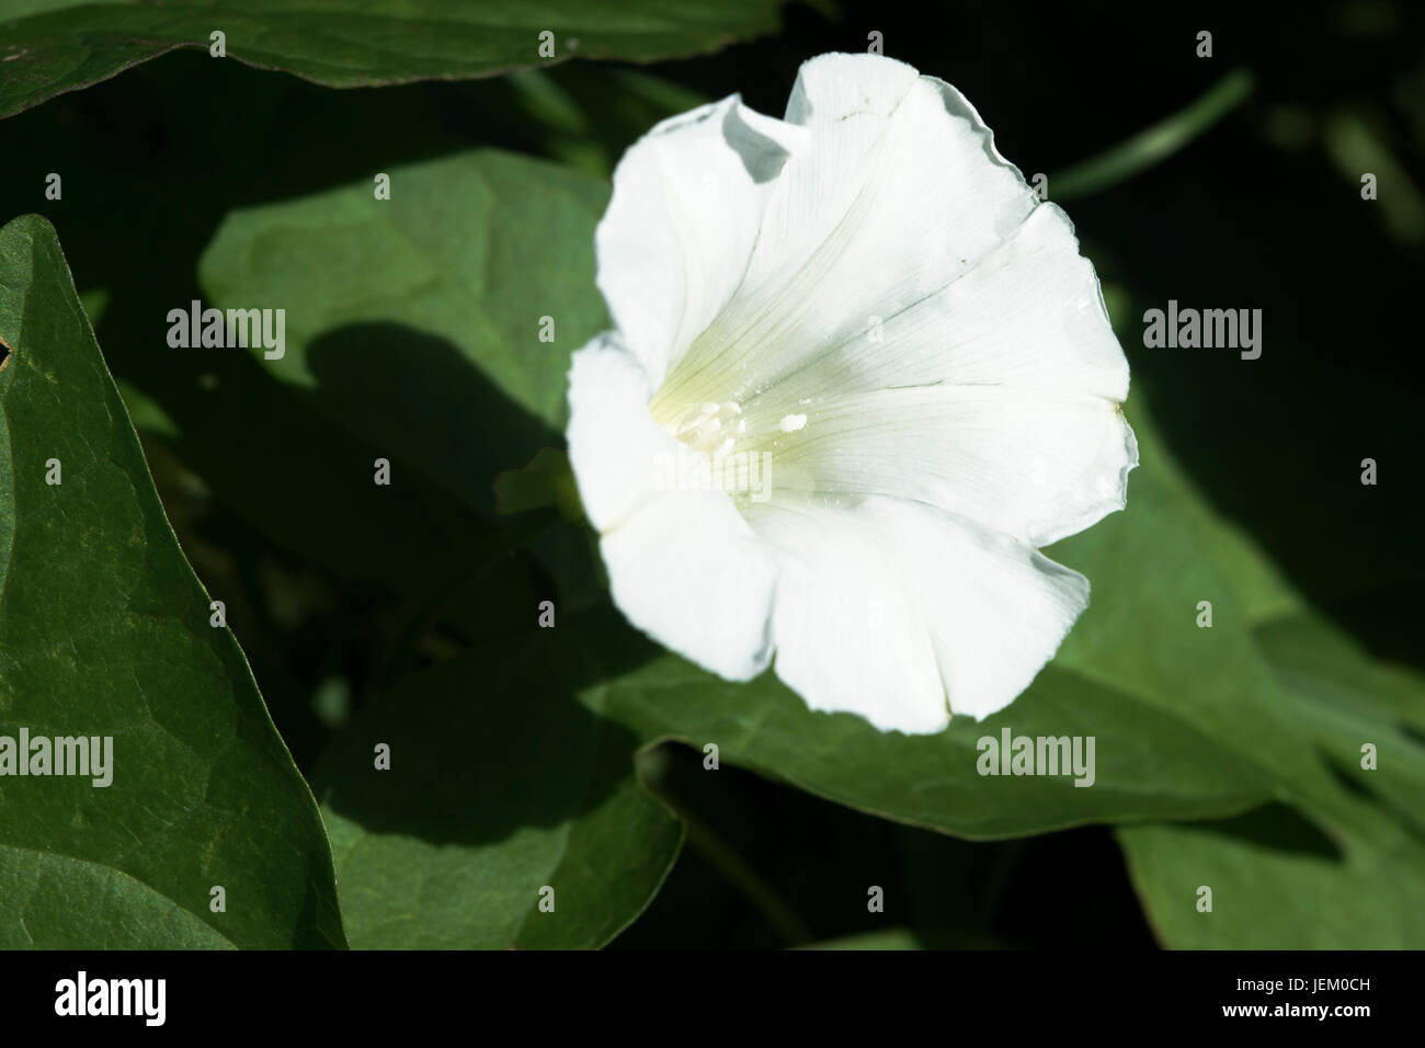
<svg viewBox="0 0 1425 1048"><path fill-rule="evenodd" d="M608 709L650 740L675 739L828 800L969 838L1082 823L1240 811L1267 788L1254 769L1180 719L1074 673L1047 669L1012 713L956 719L936 736L886 734L812 713L774 676L732 684L660 656L608 683ZM1129 730L1139 727L1139 734ZM1096 780L982 777L983 736L1096 736Z"/></svg>

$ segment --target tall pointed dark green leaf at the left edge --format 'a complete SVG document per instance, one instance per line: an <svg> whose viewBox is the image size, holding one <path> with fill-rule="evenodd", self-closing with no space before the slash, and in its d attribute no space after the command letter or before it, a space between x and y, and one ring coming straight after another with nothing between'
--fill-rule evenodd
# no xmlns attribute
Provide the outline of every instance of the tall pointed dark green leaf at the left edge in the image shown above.
<svg viewBox="0 0 1425 1048"><path fill-rule="evenodd" d="M113 737L107 787L0 777L0 945L343 945L316 804L36 215L0 230L0 736Z"/></svg>

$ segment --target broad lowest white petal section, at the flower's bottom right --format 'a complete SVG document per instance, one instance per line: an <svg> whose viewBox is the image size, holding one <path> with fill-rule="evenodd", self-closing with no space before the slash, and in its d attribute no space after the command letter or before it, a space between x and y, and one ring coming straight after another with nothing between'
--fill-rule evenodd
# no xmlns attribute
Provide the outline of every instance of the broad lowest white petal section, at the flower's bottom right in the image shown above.
<svg viewBox="0 0 1425 1048"><path fill-rule="evenodd" d="M777 674L812 709L936 731L1007 706L1089 603L1089 582L949 513L866 499L757 506L778 552Z"/></svg>

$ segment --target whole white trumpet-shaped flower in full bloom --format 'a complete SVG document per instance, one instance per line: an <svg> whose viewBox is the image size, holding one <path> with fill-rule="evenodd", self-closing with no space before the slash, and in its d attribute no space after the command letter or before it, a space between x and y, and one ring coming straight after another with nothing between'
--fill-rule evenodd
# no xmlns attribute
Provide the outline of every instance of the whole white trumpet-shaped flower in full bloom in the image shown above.
<svg viewBox="0 0 1425 1048"><path fill-rule="evenodd" d="M1137 446L1072 224L959 91L826 54L784 120L665 120L597 255L569 446L624 615L881 730L1023 692L1089 602L1037 548L1123 508Z"/></svg>

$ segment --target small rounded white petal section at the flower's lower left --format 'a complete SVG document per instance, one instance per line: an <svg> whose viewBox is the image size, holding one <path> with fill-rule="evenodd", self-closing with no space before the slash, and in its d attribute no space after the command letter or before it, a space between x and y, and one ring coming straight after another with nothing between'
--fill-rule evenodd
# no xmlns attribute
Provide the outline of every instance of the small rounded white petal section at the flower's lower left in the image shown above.
<svg viewBox="0 0 1425 1048"><path fill-rule="evenodd" d="M730 680L767 669L777 563L725 493L661 493L600 549L634 626Z"/></svg>

